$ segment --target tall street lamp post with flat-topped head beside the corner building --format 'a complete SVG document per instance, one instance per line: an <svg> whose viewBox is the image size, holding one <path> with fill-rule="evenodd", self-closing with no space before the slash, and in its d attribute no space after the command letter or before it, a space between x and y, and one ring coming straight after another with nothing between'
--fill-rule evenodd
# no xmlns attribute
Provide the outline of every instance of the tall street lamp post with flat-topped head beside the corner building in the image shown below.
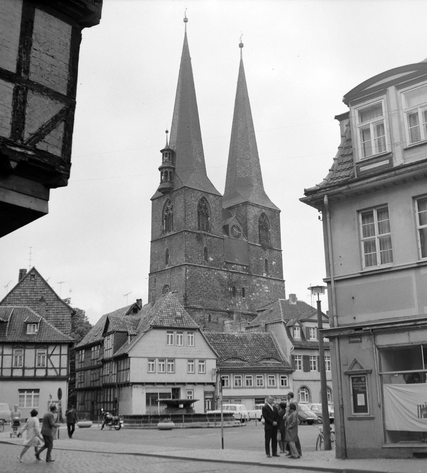
<svg viewBox="0 0 427 473"><path fill-rule="evenodd" d="M311 294L317 294L317 325L318 332L317 338L319 339L319 370L320 370L320 394L322 400L322 424L323 424L323 442L324 449L330 450L330 422L329 422L329 405L328 405L328 392L326 386L326 368L325 368L325 350L323 347L323 334L321 332L323 328L322 323L322 310L320 307L320 294L325 293L325 286L311 286L307 289L311 290Z"/></svg>

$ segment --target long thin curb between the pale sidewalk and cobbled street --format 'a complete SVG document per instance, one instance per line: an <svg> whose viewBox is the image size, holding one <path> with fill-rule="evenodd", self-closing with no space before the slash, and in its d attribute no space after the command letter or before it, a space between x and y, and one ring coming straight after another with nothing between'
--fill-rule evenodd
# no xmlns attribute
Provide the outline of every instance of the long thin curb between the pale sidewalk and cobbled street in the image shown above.
<svg viewBox="0 0 427 473"><path fill-rule="evenodd" d="M22 447L19 444L9 442L7 440L0 440L0 444L16 445ZM267 468L285 468L289 470L302 470L302 471L316 471L325 473L387 473L386 471L380 470L359 470L354 468L331 468L323 466L311 466L311 465L298 465L298 464L267 464L265 462L245 462L239 460L219 460L219 459L208 459L208 458L196 458L194 456L178 456L178 455L161 455L155 453L135 453L135 452L112 452L105 450L78 450L77 448L57 448L53 447L53 450L67 450L71 452L88 452L88 453L110 453L114 455L133 455L133 456L150 456L156 458L172 458L173 460L186 460L192 462L205 462L205 463L227 463L227 464L239 464L239 465L250 465L260 466ZM401 472L405 473L405 472Z"/></svg>

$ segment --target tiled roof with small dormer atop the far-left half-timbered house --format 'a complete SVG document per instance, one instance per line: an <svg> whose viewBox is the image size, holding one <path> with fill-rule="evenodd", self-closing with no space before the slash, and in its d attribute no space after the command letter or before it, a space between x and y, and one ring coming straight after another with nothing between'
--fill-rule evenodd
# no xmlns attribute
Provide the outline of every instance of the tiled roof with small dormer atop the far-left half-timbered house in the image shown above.
<svg viewBox="0 0 427 473"><path fill-rule="evenodd" d="M3 307L2 307L3 309ZM4 315L9 314L8 322L0 322L0 325L7 324L6 330L0 331L0 342L72 342L73 339L62 333L45 318L36 314L30 307L11 306L2 310L2 320ZM27 334L27 320L38 320L38 332ZM6 334L7 333L7 334Z"/></svg>

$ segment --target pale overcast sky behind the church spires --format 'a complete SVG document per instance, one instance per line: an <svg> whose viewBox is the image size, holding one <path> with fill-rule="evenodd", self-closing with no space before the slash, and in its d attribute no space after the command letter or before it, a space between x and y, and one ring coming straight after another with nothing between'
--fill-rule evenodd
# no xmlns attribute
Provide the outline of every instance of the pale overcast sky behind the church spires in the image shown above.
<svg viewBox="0 0 427 473"><path fill-rule="evenodd" d="M223 193L239 37L264 187L282 210L286 294L310 303L325 277L304 187L328 174L342 96L427 56L424 1L113 1L83 30L68 187L49 214L0 239L0 295L35 265L91 323L148 298L151 201L170 128L184 10L209 178ZM63 283L60 285L59 282ZM327 298L323 306L327 308Z"/></svg>

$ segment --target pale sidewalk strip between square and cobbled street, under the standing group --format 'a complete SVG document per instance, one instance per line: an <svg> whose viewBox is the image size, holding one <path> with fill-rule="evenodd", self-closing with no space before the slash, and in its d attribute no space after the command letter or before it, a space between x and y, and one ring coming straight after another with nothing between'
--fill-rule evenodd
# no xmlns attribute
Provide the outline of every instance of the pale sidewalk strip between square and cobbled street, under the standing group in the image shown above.
<svg viewBox="0 0 427 473"><path fill-rule="evenodd" d="M22 439L9 438L6 432L0 434L0 443L21 445ZM61 429L60 436L66 435ZM246 450L208 450L182 449L177 447L155 447L152 445L111 444L107 442L87 442L74 439L54 441L54 449L86 451L97 453L114 453L119 455L142 455L159 458L176 458L181 460L196 460L228 464L248 464L269 466L270 468L290 468L330 473L425 473L427 460L405 459L359 459L338 460L335 451L320 451L304 453L302 458L293 460L281 455L280 458L267 458L259 451Z"/></svg>

